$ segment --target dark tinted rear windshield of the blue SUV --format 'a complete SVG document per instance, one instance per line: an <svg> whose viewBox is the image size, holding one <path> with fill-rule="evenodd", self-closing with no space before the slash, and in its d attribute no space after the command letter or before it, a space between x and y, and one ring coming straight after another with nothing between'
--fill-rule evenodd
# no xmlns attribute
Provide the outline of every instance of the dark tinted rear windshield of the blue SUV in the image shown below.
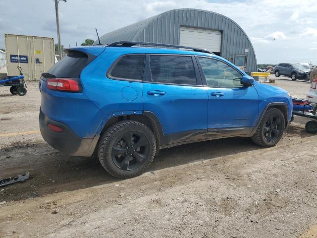
<svg viewBox="0 0 317 238"><path fill-rule="evenodd" d="M81 71L86 67L88 56L79 51L68 51L49 71L57 78L79 78Z"/></svg>

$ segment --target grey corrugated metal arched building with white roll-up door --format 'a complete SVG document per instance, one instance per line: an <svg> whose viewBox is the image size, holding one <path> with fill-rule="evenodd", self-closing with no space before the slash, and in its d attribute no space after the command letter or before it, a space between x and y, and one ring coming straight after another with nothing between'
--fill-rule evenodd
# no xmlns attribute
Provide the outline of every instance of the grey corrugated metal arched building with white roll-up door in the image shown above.
<svg viewBox="0 0 317 238"><path fill-rule="evenodd" d="M243 29L230 18L206 10L166 11L106 33L100 41L105 45L140 41L202 48L244 67L246 72L258 71L253 46Z"/></svg>

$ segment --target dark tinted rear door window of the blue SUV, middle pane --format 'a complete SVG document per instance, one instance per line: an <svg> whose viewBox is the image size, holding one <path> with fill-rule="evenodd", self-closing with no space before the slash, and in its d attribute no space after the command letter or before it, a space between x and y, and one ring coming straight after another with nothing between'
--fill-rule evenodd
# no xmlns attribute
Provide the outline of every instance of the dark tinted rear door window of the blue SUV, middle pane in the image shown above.
<svg viewBox="0 0 317 238"><path fill-rule="evenodd" d="M159 83L196 85L196 73L191 56L150 57L152 81Z"/></svg>

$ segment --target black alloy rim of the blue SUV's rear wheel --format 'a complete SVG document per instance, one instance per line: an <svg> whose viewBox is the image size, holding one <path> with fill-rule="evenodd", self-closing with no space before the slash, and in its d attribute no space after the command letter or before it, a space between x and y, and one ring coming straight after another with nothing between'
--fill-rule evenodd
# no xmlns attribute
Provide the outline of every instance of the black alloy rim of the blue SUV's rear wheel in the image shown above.
<svg viewBox="0 0 317 238"><path fill-rule="evenodd" d="M150 142L144 134L131 131L120 136L112 147L112 161L123 171L139 168L148 158Z"/></svg>

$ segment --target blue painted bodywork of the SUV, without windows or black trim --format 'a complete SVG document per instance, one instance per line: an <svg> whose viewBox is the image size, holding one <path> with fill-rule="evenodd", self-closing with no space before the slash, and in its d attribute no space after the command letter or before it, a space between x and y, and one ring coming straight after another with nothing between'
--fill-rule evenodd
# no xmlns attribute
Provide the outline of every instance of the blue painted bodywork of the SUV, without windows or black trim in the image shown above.
<svg viewBox="0 0 317 238"><path fill-rule="evenodd" d="M219 89L114 80L106 76L110 65L125 54L209 56L227 62L241 74L247 75L228 60L218 56L201 52L137 47L97 46L78 47L72 50L98 56L81 72L83 92L52 91L42 82L41 110L49 118L67 124L82 138L99 135L111 117L141 115L144 111L157 115L164 134L197 129L207 131L210 127L253 127L266 105L271 102L286 103L289 120L291 118L292 100L287 92L256 81L251 87ZM161 97L147 94L153 90L164 91L166 95ZM211 98L211 92L219 90L226 95L223 100Z"/></svg>

